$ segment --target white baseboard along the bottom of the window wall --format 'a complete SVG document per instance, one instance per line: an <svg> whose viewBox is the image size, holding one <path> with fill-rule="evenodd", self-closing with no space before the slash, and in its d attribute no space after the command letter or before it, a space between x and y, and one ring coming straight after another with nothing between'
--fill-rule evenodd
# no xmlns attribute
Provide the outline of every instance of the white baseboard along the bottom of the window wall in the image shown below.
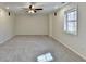
<svg viewBox="0 0 86 64"><path fill-rule="evenodd" d="M73 51L74 53L76 53L77 55L79 55L82 59L84 59L86 61L86 56L84 56L83 54L81 54L79 52L77 52L76 50L74 50L73 48L69 47L67 44L62 43L62 41L60 39L57 39L53 36L50 36L50 37L52 37L54 40L59 41L61 44L63 44L64 47L66 47L67 49L70 49L71 51Z"/></svg>

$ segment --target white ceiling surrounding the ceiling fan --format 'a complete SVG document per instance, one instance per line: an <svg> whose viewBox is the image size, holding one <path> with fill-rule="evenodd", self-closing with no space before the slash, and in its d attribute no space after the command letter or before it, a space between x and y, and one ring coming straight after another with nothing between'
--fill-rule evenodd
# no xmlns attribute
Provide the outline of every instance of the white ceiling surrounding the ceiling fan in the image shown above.
<svg viewBox="0 0 86 64"><path fill-rule="evenodd" d="M0 2L0 7L7 8L9 7L9 11L15 13L25 13L25 10L22 8L29 7L30 2ZM54 11L56 9L63 5L61 2L34 2L35 8L42 8L42 11L38 11L37 13L49 13Z"/></svg>

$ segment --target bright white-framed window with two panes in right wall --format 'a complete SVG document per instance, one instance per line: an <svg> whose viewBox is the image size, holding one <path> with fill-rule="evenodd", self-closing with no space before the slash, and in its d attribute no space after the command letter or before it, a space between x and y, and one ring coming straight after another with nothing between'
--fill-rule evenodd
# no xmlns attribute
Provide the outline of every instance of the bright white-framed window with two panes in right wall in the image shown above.
<svg viewBox="0 0 86 64"><path fill-rule="evenodd" d="M64 12L64 31L69 34L77 34L77 10L72 9Z"/></svg>

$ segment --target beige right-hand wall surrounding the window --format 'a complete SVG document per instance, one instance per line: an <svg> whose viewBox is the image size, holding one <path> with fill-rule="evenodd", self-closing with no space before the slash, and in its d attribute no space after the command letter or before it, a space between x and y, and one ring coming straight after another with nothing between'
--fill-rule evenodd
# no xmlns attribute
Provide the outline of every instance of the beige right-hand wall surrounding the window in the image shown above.
<svg viewBox="0 0 86 64"><path fill-rule="evenodd" d="M54 39L59 40L61 43L69 47L74 52L78 53L81 56L86 59L86 3L77 3L78 4L78 35L72 36L65 34L63 31L63 15L64 11L70 8L76 7L76 3L70 3L69 5L58 10L57 16L53 14L49 15L50 21L49 24L51 28L50 36ZM52 33L52 34L51 34Z"/></svg>

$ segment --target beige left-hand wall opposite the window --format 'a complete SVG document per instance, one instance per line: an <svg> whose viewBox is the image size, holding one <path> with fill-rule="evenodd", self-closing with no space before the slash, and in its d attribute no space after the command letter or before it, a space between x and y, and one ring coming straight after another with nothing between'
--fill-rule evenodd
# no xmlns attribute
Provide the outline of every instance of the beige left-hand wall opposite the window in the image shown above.
<svg viewBox="0 0 86 64"><path fill-rule="evenodd" d="M14 15L11 13L11 16L8 15L8 11L0 9L0 43L3 43L8 39L14 36Z"/></svg>

